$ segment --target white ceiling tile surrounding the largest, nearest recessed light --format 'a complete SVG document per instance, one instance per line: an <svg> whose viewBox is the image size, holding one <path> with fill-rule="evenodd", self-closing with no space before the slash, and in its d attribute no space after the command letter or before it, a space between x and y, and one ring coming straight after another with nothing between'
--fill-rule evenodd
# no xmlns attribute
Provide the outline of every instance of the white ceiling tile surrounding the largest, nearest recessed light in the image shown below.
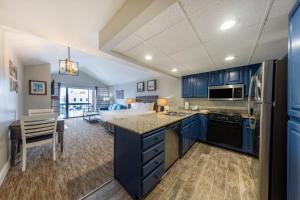
<svg viewBox="0 0 300 200"><path fill-rule="evenodd" d="M265 7L266 0L226 0L218 6L199 11L191 17L191 21L200 38L207 42L223 35L239 34L244 28L259 25ZM229 19L235 20L236 25L232 29L221 31L220 26Z"/></svg>

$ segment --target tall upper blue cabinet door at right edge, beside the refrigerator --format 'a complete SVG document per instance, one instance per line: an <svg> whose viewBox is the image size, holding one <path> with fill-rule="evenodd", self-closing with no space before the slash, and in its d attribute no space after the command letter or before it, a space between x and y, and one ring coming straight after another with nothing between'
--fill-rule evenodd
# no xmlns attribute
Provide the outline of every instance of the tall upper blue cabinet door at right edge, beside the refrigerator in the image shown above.
<svg viewBox="0 0 300 200"><path fill-rule="evenodd" d="M290 15L289 32L289 115L300 118L300 3Z"/></svg>

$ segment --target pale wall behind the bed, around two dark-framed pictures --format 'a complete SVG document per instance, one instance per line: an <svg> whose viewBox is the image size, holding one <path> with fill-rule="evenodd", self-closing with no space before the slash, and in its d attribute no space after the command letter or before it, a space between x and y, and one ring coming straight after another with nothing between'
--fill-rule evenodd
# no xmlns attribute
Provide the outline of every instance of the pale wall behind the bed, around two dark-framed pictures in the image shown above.
<svg viewBox="0 0 300 200"><path fill-rule="evenodd" d="M171 106L181 104L181 80L171 76L162 75L156 79L156 91L146 91L147 80L145 81L145 91L137 92L137 82L114 85L109 88L110 96L113 102L126 105L126 98L135 98L136 96L158 95L161 98L168 98ZM116 99L116 90L124 90L124 99Z"/></svg>

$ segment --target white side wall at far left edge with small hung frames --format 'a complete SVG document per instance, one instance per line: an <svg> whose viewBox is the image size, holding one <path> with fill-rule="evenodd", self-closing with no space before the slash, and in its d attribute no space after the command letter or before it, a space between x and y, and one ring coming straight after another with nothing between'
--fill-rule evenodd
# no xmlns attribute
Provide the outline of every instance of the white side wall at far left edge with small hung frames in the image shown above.
<svg viewBox="0 0 300 200"><path fill-rule="evenodd" d="M9 162L10 157L8 126L23 113L23 67L7 40L7 34L8 33L0 27L0 175L3 175L2 172L4 172L5 167L8 166L6 164ZM9 60L12 60L18 69L18 94L10 92Z"/></svg>

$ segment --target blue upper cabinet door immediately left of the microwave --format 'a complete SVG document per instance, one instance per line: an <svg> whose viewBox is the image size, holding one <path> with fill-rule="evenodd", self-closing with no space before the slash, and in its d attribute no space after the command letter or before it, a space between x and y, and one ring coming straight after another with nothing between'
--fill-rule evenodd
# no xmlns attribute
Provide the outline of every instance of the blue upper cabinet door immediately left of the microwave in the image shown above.
<svg viewBox="0 0 300 200"><path fill-rule="evenodd" d="M195 75L193 83L193 97L208 97L208 73Z"/></svg>

